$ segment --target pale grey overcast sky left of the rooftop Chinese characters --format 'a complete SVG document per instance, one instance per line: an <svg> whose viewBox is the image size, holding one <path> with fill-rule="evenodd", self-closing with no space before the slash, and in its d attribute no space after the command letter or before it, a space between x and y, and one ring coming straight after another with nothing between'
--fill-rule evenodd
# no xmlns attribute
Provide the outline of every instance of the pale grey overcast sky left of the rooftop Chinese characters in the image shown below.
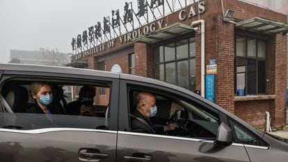
<svg viewBox="0 0 288 162"><path fill-rule="evenodd" d="M88 26L123 12L125 1L136 0L1 0L0 63L10 60L10 49L40 48L72 52L72 38Z"/></svg>

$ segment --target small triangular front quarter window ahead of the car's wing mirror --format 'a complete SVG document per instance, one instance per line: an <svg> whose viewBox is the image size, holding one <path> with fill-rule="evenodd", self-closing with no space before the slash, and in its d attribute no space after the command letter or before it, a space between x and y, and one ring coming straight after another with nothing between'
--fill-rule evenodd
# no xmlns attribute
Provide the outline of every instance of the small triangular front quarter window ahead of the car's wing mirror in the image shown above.
<svg viewBox="0 0 288 162"><path fill-rule="evenodd" d="M233 129L234 143L267 146L267 144L262 139L241 127L240 124L237 124L233 120L229 120L229 122Z"/></svg>

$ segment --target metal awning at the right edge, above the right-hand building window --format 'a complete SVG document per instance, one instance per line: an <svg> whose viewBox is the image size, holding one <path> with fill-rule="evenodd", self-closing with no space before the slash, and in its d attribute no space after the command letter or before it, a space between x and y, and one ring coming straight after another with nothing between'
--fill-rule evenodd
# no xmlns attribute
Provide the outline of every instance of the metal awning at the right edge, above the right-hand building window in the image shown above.
<svg viewBox="0 0 288 162"><path fill-rule="evenodd" d="M255 33L263 33L268 35L288 32L288 24L284 24L282 22L275 22L260 17L253 17L251 19L237 22L235 27L237 29L243 29L245 31L252 31Z"/></svg>

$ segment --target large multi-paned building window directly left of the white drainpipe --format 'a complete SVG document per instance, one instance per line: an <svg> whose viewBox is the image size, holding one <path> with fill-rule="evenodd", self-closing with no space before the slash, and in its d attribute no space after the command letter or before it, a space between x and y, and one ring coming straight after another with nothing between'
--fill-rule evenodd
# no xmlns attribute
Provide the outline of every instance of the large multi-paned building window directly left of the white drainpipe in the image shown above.
<svg viewBox="0 0 288 162"><path fill-rule="evenodd" d="M195 90L195 38L154 49L154 78Z"/></svg>

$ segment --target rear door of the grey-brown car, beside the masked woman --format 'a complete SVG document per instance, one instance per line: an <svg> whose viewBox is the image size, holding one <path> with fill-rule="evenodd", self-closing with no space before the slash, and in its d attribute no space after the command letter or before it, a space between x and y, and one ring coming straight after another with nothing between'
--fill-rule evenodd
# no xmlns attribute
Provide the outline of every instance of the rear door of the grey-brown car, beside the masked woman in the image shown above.
<svg viewBox="0 0 288 162"><path fill-rule="evenodd" d="M109 99L111 101L109 116L95 118L65 114L47 116L45 114L9 113L6 108L7 103L4 103L5 99L1 94L1 162L115 161L118 79L85 74L7 71L4 72L0 81L1 90L6 88L3 86L4 83L18 83L19 81L107 83L110 86Z"/></svg>

